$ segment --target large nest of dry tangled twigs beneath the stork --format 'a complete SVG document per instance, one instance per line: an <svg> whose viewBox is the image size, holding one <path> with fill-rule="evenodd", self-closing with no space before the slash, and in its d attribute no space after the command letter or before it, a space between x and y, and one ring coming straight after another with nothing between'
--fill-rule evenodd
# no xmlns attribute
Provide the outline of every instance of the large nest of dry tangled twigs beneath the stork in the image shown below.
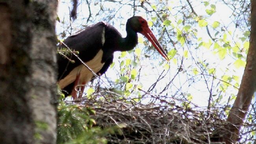
<svg viewBox="0 0 256 144"><path fill-rule="evenodd" d="M195 105L192 108L189 102L175 104L177 100L152 99L159 103L142 104L106 95L104 99L94 97L79 103L95 109L92 118L98 126L122 127L121 135L108 135L109 144L209 144L219 140L225 121L224 115L216 114L217 109L210 111Z"/></svg>

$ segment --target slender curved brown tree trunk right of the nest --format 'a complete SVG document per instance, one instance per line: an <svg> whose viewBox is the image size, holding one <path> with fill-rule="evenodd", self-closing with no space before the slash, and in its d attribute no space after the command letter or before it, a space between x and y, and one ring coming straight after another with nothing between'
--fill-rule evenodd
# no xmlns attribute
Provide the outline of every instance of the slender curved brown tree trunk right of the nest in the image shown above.
<svg viewBox="0 0 256 144"><path fill-rule="evenodd" d="M236 100L228 115L226 134L224 140L226 144L235 143L239 138L239 129L248 112L252 102L252 96L256 90L256 1L251 0L251 31L250 47L247 54L247 64L241 81Z"/></svg>

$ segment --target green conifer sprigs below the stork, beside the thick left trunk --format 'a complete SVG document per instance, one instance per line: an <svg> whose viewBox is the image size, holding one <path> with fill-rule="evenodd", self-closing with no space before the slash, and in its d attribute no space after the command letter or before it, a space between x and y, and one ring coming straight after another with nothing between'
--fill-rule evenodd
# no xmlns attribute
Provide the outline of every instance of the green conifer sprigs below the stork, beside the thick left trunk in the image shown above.
<svg viewBox="0 0 256 144"><path fill-rule="evenodd" d="M58 128L57 144L106 144L106 136L109 134L120 134L120 128L96 127L96 121L90 115L95 111L90 107L67 104L59 102L58 106ZM36 123L39 127L45 128L41 122ZM40 135L35 135L40 138Z"/></svg>

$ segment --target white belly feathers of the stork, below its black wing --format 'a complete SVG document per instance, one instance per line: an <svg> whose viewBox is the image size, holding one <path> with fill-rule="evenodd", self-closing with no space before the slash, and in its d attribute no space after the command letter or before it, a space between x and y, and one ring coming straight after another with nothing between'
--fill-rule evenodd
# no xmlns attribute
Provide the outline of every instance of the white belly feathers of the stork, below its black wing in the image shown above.
<svg viewBox="0 0 256 144"><path fill-rule="evenodd" d="M103 56L103 51L100 50L96 56L91 59L90 61L86 62L86 65L93 70L93 72L98 72L103 67L104 63L101 63ZM85 67L83 64L79 65L78 67L74 68L66 77L59 81L59 87L61 89L68 86L70 83L73 83L76 80L76 76L80 74L80 80L78 85L85 85L91 78L93 77L93 73Z"/></svg>

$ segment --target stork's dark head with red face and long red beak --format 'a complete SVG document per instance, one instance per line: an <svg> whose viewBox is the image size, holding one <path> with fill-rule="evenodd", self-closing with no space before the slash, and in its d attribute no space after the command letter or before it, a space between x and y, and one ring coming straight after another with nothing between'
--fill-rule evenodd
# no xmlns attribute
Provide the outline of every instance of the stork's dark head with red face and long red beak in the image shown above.
<svg viewBox="0 0 256 144"><path fill-rule="evenodd" d="M152 43L152 45L156 48L156 50L165 58L167 61L169 61L169 58L161 45L159 44L158 40L148 27L148 22L142 18L141 16L133 16L127 20L126 28L127 26L130 26L131 29L135 32L139 32L146 36L146 38Z"/></svg>

